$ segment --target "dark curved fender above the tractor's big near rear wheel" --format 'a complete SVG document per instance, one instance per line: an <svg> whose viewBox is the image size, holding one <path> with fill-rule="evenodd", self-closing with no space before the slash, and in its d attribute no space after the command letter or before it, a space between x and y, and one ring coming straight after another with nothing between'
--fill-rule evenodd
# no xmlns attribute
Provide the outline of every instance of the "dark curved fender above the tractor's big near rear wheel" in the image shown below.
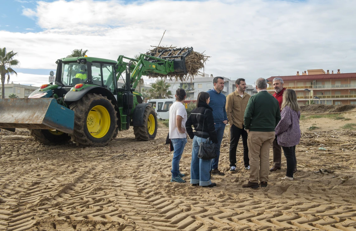
<svg viewBox="0 0 356 231"><path fill-rule="evenodd" d="M102 96L108 97L109 100L114 101L114 106L115 108L117 107L117 101L115 96L106 89L105 87L101 86L90 86L87 88L84 88L81 91L69 91L65 96L64 96L64 101L65 102L75 102L80 100L84 95L87 93L96 93L96 94L101 94Z"/></svg>

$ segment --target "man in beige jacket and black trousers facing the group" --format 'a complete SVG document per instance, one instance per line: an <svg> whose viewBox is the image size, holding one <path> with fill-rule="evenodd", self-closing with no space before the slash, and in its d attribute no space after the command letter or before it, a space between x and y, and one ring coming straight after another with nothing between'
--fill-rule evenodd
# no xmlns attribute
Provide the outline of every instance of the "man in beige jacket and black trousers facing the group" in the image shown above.
<svg viewBox="0 0 356 231"><path fill-rule="evenodd" d="M242 136L242 145L244 146L244 166L250 170L250 159L248 158L247 132L244 126L244 115L247 102L250 99L246 91L245 79L235 81L236 91L226 97L226 114L230 124L230 171L236 171L236 148Z"/></svg>

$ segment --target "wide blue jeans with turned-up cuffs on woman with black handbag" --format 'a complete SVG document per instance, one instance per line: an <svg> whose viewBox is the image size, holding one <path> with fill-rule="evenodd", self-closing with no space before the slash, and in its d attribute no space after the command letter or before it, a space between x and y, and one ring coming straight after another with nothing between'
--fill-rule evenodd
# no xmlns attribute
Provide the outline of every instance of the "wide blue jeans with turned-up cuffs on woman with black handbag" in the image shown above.
<svg viewBox="0 0 356 231"><path fill-rule="evenodd" d="M200 186L207 186L211 184L210 168L211 160L203 160L198 157L200 142L205 142L205 138L194 136L192 163L190 164L190 183L199 184Z"/></svg>

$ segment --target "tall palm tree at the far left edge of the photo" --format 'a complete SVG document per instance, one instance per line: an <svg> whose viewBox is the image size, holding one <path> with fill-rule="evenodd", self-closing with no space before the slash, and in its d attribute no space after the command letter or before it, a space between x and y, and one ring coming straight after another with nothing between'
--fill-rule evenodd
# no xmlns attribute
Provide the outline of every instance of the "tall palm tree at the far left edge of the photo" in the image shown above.
<svg viewBox="0 0 356 231"><path fill-rule="evenodd" d="M12 69L13 67L19 65L19 60L14 59L17 52L11 50L6 52L6 48L0 48L0 76L1 76L1 89L2 89L2 98L5 98L5 77L7 75L7 83L10 81L10 75L17 75L16 71Z"/></svg>

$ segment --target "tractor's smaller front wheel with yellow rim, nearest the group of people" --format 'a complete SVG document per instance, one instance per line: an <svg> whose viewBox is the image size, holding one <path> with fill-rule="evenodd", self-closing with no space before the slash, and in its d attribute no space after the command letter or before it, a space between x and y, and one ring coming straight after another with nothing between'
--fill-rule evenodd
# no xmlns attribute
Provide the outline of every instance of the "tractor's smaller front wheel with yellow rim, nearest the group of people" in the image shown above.
<svg viewBox="0 0 356 231"><path fill-rule="evenodd" d="M153 140L157 134L157 115L155 109L152 107L146 107L145 114L143 116L142 126L133 127L133 134L137 141Z"/></svg>

